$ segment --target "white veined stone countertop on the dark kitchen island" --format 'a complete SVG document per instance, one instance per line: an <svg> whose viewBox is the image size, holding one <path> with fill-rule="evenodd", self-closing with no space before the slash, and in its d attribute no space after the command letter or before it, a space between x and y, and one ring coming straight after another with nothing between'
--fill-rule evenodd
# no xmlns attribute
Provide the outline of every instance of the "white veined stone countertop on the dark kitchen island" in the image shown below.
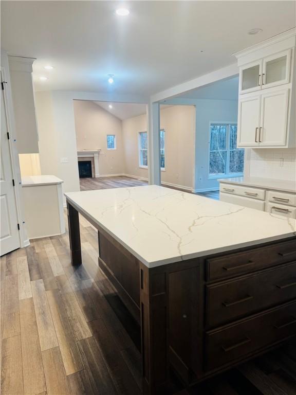
<svg viewBox="0 0 296 395"><path fill-rule="evenodd" d="M156 185L65 193L147 267L296 235L296 220Z"/></svg>

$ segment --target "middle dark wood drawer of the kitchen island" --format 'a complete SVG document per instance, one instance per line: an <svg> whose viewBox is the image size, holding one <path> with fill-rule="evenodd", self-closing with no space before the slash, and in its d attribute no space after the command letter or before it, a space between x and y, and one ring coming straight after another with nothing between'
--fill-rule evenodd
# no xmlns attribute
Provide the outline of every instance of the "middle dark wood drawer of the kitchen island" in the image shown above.
<svg viewBox="0 0 296 395"><path fill-rule="evenodd" d="M296 261L206 286L206 324L213 328L296 299Z"/></svg>

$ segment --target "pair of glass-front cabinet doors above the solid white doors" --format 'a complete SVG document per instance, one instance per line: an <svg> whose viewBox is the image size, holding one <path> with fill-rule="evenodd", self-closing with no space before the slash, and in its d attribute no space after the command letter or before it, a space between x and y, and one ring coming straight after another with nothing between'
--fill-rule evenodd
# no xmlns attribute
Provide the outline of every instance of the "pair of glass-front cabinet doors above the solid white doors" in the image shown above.
<svg viewBox="0 0 296 395"><path fill-rule="evenodd" d="M290 82L291 49L240 68L239 93L249 93Z"/></svg>

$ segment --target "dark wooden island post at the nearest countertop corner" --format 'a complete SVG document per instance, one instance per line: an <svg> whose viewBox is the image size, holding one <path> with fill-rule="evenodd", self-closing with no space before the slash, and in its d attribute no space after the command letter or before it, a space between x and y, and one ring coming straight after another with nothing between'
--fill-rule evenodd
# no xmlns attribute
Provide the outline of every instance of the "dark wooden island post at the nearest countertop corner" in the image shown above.
<svg viewBox="0 0 296 395"><path fill-rule="evenodd" d="M169 381L165 273L141 264L140 297L143 393L156 395Z"/></svg>

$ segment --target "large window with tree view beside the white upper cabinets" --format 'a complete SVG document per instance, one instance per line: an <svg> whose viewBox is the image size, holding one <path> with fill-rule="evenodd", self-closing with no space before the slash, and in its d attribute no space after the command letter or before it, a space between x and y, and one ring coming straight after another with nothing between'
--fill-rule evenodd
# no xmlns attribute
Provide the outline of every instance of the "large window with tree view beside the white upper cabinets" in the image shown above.
<svg viewBox="0 0 296 395"><path fill-rule="evenodd" d="M236 124L211 123L210 178L243 174L245 150L236 147L236 136Z"/></svg>

